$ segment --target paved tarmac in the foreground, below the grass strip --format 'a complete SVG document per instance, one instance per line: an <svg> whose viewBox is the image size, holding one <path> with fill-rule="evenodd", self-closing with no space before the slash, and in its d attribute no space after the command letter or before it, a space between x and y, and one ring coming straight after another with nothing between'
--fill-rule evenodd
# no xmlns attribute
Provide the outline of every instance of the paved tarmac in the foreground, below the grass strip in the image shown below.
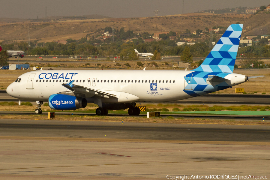
<svg viewBox="0 0 270 180"><path fill-rule="evenodd" d="M0 179L270 176L270 127L0 119Z"/></svg>

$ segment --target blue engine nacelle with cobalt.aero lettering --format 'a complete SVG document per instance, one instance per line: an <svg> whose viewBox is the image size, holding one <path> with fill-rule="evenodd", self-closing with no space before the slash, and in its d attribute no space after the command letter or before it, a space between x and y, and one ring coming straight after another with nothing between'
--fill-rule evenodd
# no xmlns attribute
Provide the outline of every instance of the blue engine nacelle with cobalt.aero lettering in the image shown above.
<svg viewBox="0 0 270 180"><path fill-rule="evenodd" d="M85 108L87 100L85 98L76 98L71 95L55 94L49 97L49 107L53 110L76 110Z"/></svg>

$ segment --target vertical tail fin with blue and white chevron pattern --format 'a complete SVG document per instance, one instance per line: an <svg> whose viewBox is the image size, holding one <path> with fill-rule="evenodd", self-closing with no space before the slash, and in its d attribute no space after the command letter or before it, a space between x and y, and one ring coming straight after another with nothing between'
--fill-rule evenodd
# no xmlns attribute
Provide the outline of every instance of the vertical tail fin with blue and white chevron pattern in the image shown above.
<svg viewBox="0 0 270 180"><path fill-rule="evenodd" d="M242 24L232 24L195 71L232 73L238 51Z"/></svg>

